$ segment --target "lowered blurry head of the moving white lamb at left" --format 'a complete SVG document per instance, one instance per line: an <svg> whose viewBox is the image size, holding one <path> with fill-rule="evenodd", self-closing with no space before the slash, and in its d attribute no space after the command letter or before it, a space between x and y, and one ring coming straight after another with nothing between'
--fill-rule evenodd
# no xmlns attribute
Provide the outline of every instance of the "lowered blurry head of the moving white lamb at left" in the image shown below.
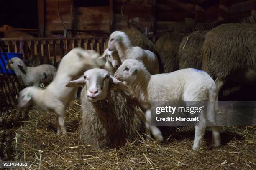
<svg viewBox="0 0 256 170"><path fill-rule="evenodd" d="M31 99L33 94L31 93L31 88L33 87L27 87L20 91L18 98L18 107L26 108L32 104Z"/></svg>

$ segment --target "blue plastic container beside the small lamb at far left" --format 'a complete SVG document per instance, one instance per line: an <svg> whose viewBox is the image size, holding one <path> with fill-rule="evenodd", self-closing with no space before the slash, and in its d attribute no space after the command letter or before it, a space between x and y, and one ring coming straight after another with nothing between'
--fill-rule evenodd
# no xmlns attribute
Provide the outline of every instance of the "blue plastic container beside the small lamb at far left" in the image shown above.
<svg viewBox="0 0 256 170"><path fill-rule="evenodd" d="M6 70L6 59L10 60L13 57L21 58L22 59L22 53L14 53L14 52L0 52L0 73L2 74L13 74L13 70Z"/></svg>

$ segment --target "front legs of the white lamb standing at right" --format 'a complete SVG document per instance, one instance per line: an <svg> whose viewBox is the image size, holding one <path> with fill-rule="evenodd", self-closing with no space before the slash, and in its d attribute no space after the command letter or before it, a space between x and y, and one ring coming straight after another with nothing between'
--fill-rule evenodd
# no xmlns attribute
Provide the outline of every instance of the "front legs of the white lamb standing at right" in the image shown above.
<svg viewBox="0 0 256 170"><path fill-rule="evenodd" d="M151 122L151 110L147 110L146 111L146 139L148 140L148 138L151 136L151 133L153 134L153 136L156 138L156 140L158 142L162 142L164 140L161 131L159 130L159 128L157 128L156 126L151 126L150 125Z"/></svg>

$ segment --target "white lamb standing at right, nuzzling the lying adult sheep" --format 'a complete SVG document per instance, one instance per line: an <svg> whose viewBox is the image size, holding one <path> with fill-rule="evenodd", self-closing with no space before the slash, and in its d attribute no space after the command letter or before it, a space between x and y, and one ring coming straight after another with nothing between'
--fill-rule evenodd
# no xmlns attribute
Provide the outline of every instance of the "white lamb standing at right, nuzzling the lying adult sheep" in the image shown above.
<svg viewBox="0 0 256 170"><path fill-rule="evenodd" d="M218 101L214 80L204 71L197 69L181 69L169 74L150 75L142 62L125 60L115 72L114 77L128 82L137 100L146 109L146 134L150 135L151 128L154 137L162 141L163 137L156 126L149 126L151 122L151 105L154 101L208 101L207 118L215 123L215 106ZM220 130L212 126L212 140L215 146L220 145ZM202 146L205 134L205 119L200 118L195 126L195 140L193 149Z"/></svg>

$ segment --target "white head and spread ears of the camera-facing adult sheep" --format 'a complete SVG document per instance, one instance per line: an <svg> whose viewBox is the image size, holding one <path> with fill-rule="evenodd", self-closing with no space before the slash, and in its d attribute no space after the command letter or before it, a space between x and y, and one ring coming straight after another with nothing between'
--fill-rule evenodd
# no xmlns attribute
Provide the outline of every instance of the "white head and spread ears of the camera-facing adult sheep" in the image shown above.
<svg viewBox="0 0 256 170"><path fill-rule="evenodd" d="M78 87L86 85L87 97L90 102L104 100L108 95L109 84L112 83L120 89L127 89L128 87L110 75L104 69L91 69L84 72L84 76L77 80L70 81L66 87Z"/></svg>

